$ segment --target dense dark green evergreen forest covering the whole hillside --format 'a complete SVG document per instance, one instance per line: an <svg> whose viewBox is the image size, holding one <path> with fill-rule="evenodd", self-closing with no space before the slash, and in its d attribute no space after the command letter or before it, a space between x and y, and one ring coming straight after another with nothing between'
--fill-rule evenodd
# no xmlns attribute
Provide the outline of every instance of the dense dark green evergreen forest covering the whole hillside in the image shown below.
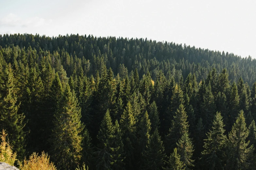
<svg viewBox="0 0 256 170"><path fill-rule="evenodd" d="M44 151L62 170L256 169L254 120L250 56L147 38L0 35L0 129L18 160Z"/></svg>

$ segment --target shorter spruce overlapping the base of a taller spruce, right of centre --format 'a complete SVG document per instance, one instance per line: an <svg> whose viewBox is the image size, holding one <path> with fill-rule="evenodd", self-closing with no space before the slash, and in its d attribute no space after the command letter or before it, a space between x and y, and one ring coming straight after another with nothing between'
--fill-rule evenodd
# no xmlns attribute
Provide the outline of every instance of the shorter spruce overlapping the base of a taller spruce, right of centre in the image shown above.
<svg viewBox="0 0 256 170"><path fill-rule="evenodd" d="M193 164L195 160L192 160L194 146L188 133L184 133L176 144L178 147L177 153L180 155L180 161L185 164L186 169L190 169L190 167L195 166Z"/></svg>

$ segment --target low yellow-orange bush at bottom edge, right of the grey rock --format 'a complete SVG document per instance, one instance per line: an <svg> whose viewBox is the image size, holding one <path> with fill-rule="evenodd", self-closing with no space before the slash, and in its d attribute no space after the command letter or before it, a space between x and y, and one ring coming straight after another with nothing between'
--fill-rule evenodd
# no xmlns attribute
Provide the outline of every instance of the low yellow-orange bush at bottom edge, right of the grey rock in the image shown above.
<svg viewBox="0 0 256 170"><path fill-rule="evenodd" d="M26 158L23 161L23 164L20 163L20 170L57 170L55 165L50 162L50 157L47 153L42 152L41 156L38 156L38 153L34 152L29 156L29 159Z"/></svg>

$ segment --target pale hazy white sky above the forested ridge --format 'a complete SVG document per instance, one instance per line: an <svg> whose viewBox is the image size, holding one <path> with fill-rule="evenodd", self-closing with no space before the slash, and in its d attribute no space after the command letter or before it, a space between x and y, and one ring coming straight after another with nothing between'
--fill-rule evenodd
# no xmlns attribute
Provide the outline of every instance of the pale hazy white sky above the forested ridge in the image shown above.
<svg viewBox="0 0 256 170"><path fill-rule="evenodd" d="M123 36L256 58L255 0L0 0L0 34Z"/></svg>

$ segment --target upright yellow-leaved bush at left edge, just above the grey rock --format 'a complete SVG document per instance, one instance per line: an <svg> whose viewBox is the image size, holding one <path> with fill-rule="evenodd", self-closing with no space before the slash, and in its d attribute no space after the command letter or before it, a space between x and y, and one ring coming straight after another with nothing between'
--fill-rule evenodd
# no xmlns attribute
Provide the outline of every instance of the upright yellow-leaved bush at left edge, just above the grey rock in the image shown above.
<svg viewBox="0 0 256 170"><path fill-rule="evenodd" d="M2 135L0 135L0 162L5 162L13 166L16 161L17 154L16 152L12 153L12 146L10 146L6 136L7 134L5 133L5 130L3 130Z"/></svg>

